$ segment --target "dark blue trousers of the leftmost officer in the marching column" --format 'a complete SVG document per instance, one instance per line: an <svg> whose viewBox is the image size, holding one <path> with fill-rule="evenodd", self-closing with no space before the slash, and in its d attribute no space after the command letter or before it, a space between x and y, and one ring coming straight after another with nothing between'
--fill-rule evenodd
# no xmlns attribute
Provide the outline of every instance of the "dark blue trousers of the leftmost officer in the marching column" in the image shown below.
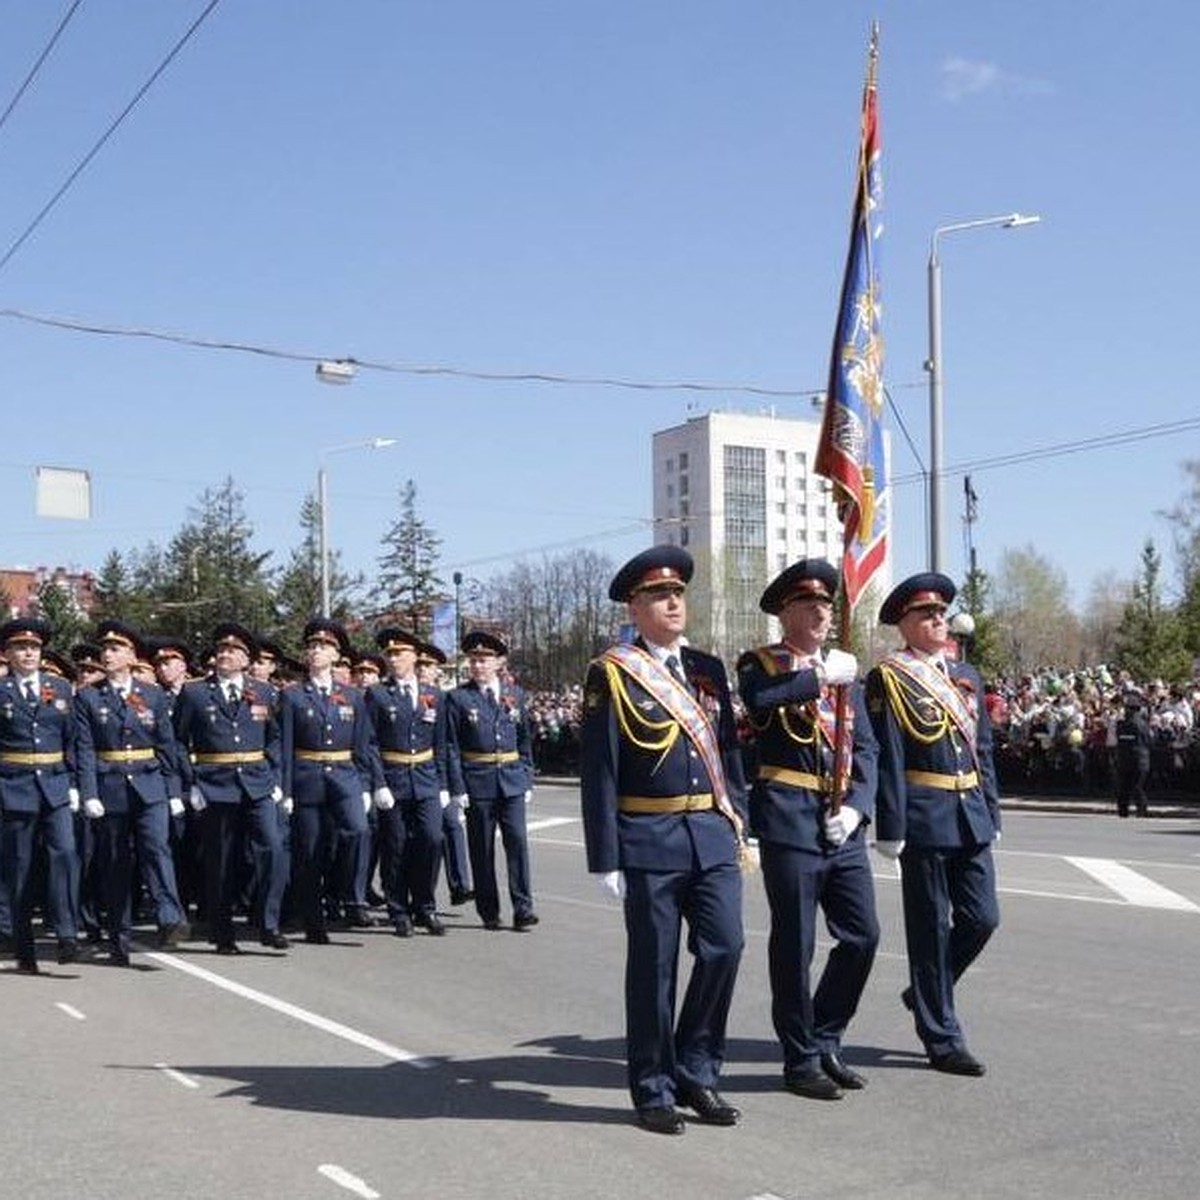
<svg viewBox="0 0 1200 1200"><path fill-rule="evenodd" d="M79 858L76 854L71 810L42 805L40 812L4 814L0 826L0 875L12 908L12 938L17 959L34 961L34 854L41 832L47 854L47 908L54 931L74 938L77 930Z"/></svg>

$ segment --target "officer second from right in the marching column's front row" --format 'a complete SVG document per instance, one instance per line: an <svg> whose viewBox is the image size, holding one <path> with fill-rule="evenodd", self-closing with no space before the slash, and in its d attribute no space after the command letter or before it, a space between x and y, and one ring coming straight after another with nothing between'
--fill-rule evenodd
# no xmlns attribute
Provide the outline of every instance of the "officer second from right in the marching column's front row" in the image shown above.
<svg viewBox="0 0 1200 1200"><path fill-rule="evenodd" d="M396 800L379 814L379 859L388 916L398 937L413 926L436 937L445 932L433 889L442 857L442 798L445 781L445 704L442 692L416 678L419 638L403 629L380 629L376 644L389 674L367 689L384 779Z"/></svg>

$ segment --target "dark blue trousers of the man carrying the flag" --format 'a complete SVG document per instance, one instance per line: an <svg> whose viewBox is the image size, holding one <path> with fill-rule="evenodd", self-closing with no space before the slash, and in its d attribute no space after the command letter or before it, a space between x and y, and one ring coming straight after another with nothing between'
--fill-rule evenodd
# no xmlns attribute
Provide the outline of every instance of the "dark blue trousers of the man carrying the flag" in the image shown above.
<svg viewBox="0 0 1200 1200"><path fill-rule="evenodd" d="M871 973L880 922L862 838L830 856L772 842L761 842L760 854L770 906L770 1015L786 1075L811 1069L822 1054L841 1046ZM818 910L834 947L814 992Z"/></svg>

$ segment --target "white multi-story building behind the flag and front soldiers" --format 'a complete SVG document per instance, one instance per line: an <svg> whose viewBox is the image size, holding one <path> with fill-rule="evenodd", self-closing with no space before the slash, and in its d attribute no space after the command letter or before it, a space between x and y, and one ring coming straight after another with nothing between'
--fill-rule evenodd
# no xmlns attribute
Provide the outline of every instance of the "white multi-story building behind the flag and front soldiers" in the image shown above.
<svg viewBox="0 0 1200 1200"><path fill-rule="evenodd" d="M818 420L744 413L654 434L655 540L696 560L692 636L728 659L774 636L758 596L785 566L841 560L830 485L812 470L820 434Z"/></svg>

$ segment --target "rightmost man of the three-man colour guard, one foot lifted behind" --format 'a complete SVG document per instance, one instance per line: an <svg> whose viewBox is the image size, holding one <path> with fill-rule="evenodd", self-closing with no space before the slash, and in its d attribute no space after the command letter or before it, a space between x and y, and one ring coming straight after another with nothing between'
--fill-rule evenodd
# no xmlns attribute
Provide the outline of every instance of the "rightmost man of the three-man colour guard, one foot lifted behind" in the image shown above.
<svg viewBox="0 0 1200 1200"><path fill-rule="evenodd" d="M937 572L899 583L880 622L905 648L868 676L880 742L876 846L899 856L917 1034L932 1067L982 1075L954 1010L954 986L1000 924L991 844L1000 794L983 683L944 656L953 581Z"/></svg>

